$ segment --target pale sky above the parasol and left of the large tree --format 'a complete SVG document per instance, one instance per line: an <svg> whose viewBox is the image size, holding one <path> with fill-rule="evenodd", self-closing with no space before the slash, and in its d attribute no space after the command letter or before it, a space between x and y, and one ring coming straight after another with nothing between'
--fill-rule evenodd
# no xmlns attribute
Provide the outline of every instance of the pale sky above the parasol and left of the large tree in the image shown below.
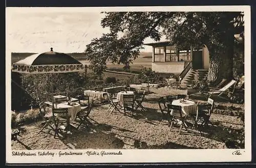
<svg viewBox="0 0 256 168"><path fill-rule="evenodd" d="M100 25L98 10L12 8L7 10L7 44L11 52L83 52L93 38L109 29ZM154 42L145 39L145 43ZM151 46L141 51L151 52Z"/></svg>

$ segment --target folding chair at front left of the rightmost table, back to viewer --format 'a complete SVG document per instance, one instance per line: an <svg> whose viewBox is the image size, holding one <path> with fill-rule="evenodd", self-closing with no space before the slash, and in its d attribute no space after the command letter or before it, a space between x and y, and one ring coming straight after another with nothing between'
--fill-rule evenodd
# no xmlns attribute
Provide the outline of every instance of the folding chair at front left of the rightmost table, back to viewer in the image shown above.
<svg viewBox="0 0 256 168"><path fill-rule="evenodd" d="M181 129L183 126L187 130L187 125L185 123L186 115L182 112L182 107L180 105L172 105L172 104L167 104L167 107L168 107L169 115L171 118L170 130L172 130L174 120L177 120L177 122L180 123L179 134L181 133Z"/></svg>

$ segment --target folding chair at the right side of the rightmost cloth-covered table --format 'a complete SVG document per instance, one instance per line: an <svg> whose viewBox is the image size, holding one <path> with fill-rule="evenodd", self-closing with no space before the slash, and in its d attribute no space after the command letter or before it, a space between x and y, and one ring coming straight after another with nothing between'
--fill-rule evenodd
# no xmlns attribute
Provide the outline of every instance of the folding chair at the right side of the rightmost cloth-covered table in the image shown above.
<svg viewBox="0 0 256 168"><path fill-rule="evenodd" d="M207 104L200 104L197 106L197 114L195 119L195 126L208 126L210 123L210 116L214 108L214 100L208 98ZM201 132L201 131L200 131Z"/></svg>

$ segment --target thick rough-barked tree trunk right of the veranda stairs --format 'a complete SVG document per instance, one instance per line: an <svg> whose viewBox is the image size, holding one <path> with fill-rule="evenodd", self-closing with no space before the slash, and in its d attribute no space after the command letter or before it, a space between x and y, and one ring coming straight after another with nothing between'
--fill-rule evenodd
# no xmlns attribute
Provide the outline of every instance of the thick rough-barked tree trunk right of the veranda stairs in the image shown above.
<svg viewBox="0 0 256 168"><path fill-rule="evenodd" d="M223 78L230 80L233 76L233 35L226 35L219 46L210 47L210 65L207 81L215 85Z"/></svg>

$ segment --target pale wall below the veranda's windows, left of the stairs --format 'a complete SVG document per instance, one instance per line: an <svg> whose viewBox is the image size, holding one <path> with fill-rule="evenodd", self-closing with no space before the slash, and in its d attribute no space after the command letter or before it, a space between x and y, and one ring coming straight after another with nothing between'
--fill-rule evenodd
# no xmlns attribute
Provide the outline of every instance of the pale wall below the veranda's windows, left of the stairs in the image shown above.
<svg viewBox="0 0 256 168"><path fill-rule="evenodd" d="M184 62L154 62L152 70L159 73L181 73L184 69Z"/></svg>

